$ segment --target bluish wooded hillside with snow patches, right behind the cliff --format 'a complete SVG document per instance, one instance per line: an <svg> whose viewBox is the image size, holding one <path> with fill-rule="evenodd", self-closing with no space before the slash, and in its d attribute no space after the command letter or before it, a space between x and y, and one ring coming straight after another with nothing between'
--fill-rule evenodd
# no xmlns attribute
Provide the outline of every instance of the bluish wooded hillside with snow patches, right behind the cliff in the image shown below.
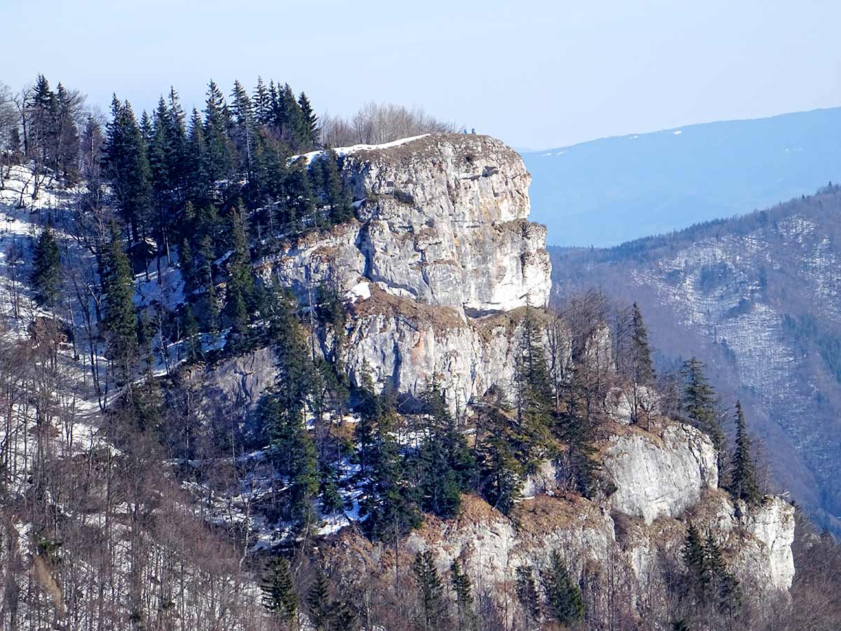
<svg viewBox="0 0 841 631"><path fill-rule="evenodd" d="M841 194L610 250L553 249L555 299L580 284L636 300L661 367L696 355L749 402L783 490L838 529Z"/></svg>

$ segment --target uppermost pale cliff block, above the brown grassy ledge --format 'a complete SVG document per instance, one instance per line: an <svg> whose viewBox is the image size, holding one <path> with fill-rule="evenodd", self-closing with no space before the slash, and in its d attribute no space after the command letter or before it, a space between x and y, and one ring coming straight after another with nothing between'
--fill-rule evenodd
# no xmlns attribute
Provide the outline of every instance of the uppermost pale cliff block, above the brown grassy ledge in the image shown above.
<svg viewBox="0 0 841 631"><path fill-rule="evenodd" d="M504 143L426 135L348 153L341 176L357 220L288 243L261 265L302 300L307 283L331 278L342 291L368 279L470 315L547 304L546 229L527 220L531 176Z"/></svg>

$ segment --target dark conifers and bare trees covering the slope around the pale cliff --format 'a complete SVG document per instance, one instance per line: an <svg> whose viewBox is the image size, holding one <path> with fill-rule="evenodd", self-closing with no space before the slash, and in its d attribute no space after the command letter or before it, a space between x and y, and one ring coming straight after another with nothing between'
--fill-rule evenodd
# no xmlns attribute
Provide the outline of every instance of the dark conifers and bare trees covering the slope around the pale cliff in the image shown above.
<svg viewBox="0 0 841 631"><path fill-rule="evenodd" d="M841 554L805 522L797 562L814 571L791 602L758 602L699 517L644 616L561 546L511 567L504 601L462 559L442 571L410 549L427 522L476 511L526 531L546 464L559 502L605 501L616 390L627 431L709 437L727 501L750 511L773 490L741 404L697 359L658 374L642 310L594 290L512 315L512 388L469 411L435 374L417 400L349 379L346 296L313 284L301 305L261 262L357 220L341 139L446 130L385 106L322 121L262 80L210 82L190 113L174 89L140 117L115 95L104 121L43 76L3 94L0 628L833 628ZM203 371L265 348L277 376L252 422L204 416ZM379 562L347 571L336 523Z"/></svg>

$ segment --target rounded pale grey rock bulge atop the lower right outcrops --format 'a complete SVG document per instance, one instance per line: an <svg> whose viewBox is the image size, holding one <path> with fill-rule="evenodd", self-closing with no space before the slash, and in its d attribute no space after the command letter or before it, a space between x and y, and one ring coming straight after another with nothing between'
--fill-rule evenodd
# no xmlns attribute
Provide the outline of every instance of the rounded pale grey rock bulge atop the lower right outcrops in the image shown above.
<svg viewBox="0 0 841 631"><path fill-rule="evenodd" d="M718 485L717 452L702 432L682 424L667 424L659 435L622 432L611 437L604 470L616 492L614 510L643 517L679 517L701 498L701 491Z"/></svg>

